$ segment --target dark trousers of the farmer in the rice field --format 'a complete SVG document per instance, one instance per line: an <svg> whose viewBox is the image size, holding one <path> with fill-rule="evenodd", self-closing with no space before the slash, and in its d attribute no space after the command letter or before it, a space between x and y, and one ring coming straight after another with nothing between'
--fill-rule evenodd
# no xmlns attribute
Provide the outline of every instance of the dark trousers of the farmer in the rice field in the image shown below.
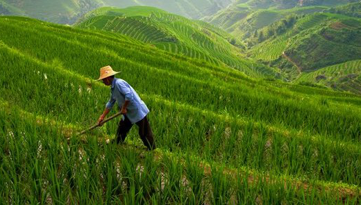
<svg viewBox="0 0 361 205"><path fill-rule="evenodd" d="M144 145L149 149L156 149L156 144L154 143L153 132L151 131L151 126L148 122L148 119L144 117L139 122L136 122L139 127L139 136L142 139ZM124 142L126 140L126 136L131 130L133 124L131 121L124 115L124 120L121 120L118 125L117 130L117 143Z"/></svg>

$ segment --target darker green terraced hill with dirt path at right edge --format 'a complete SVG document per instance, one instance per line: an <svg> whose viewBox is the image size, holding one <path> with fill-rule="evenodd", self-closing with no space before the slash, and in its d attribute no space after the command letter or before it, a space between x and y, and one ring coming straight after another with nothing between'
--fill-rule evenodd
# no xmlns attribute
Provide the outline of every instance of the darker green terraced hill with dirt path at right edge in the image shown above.
<svg viewBox="0 0 361 205"><path fill-rule="evenodd" d="M315 13L277 33L280 25L285 24L258 31L256 36L266 40L251 47L249 55L280 67L289 80L361 94L361 19Z"/></svg>

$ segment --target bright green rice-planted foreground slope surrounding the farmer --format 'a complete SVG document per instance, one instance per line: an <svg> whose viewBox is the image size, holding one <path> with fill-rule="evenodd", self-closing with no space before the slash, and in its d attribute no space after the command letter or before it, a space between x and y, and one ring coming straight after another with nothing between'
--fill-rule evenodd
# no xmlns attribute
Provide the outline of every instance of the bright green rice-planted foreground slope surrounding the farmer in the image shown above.
<svg viewBox="0 0 361 205"><path fill-rule="evenodd" d="M230 195L236 194L238 202L250 203L255 201L253 196L262 196L276 204L333 204L339 200L336 193L342 190L340 186L346 190L361 186L360 97L256 81L234 69L171 54L106 31L0 17L0 35L0 65L11 68L3 69L0 75L0 179L6 185L0 189L3 203L50 198L98 204L133 199L137 204L146 200L148 193L160 203L192 201L189 196L194 195L217 204L228 202ZM212 165L212 177L196 175L201 181L194 181L190 170L197 170L198 165L187 156L185 170L169 167L181 165L176 158L162 158L160 164L165 166L161 170L171 181L162 183L162 174L153 170L159 165L154 164L151 154L146 154L142 163L132 149L98 147L92 136L87 136L85 145L77 138L67 144L62 129L71 124L80 130L101 113L109 88L92 79L98 76L99 67L108 64L121 70L120 77L133 85L151 109L149 119L160 151L207 161ZM49 120L58 126L47 123ZM112 135L116 125L111 122L96 135ZM130 139L137 141L136 136L133 130ZM144 178L135 172L139 163L152 170L144 172ZM217 175L223 173L216 170L217 163L267 175L253 185L244 181L246 176L240 176L238 186L230 178ZM178 171L180 178L174 175ZM183 174L194 182L190 195L183 186L174 185ZM128 190L121 185L125 179L134 182ZM274 183L267 185L270 179ZM285 181L304 184L305 189L318 181L321 187L313 191L294 190L292 186L285 189ZM219 183L227 184L222 186L225 192L218 189ZM157 184L167 192L140 189ZM197 186L208 197L195 195ZM233 188L238 191L230 194ZM326 190L330 192L323 192ZM134 197L132 192L145 198Z"/></svg>

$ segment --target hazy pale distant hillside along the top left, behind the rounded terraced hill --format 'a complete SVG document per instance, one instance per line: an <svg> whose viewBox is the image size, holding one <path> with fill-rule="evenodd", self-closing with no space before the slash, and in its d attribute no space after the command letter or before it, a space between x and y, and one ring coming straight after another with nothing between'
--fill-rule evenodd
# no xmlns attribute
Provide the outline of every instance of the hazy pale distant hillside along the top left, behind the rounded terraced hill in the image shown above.
<svg viewBox="0 0 361 205"><path fill-rule="evenodd" d="M42 19L47 22L73 24L85 13L102 6L154 6L171 13L199 19L213 15L226 8L230 0L181 0L181 1L148 1L148 0L0 0L0 15L20 15Z"/></svg>

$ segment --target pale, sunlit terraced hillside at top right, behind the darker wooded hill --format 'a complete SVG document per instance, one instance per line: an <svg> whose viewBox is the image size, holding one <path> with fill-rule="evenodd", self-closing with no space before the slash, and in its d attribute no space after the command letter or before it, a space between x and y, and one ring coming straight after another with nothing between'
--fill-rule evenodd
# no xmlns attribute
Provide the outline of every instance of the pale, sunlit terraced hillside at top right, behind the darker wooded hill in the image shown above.
<svg viewBox="0 0 361 205"><path fill-rule="evenodd" d="M237 0L203 20L220 26L237 38L249 38L255 30L268 26L289 14L310 14L332 6L359 0Z"/></svg>

